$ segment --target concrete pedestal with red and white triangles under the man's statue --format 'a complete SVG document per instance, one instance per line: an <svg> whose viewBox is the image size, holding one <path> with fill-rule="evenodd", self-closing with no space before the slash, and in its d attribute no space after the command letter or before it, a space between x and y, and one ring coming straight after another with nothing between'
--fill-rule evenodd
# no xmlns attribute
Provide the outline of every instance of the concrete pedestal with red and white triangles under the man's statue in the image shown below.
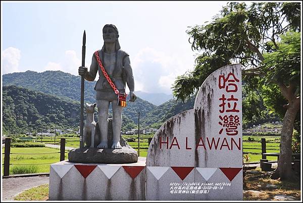
<svg viewBox="0 0 303 203"><path fill-rule="evenodd" d="M145 158L131 164L51 165L49 200L145 200Z"/></svg>

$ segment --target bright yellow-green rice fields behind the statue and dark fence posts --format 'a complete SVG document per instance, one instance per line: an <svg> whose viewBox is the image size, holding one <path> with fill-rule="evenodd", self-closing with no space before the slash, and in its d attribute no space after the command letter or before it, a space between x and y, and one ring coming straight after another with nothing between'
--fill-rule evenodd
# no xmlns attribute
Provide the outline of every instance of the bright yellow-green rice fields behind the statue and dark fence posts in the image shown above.
<svg viewBox="0 0 303 203"><path fill-rule="evenodd" d="M151 135L152 136L152 135ZM147 156L147 149L148 149L148 138L151 136L146 135L140 135L140 150L139 150L139 156L140 157L146 157ZM254 136L255 141L247 141L249 136L245 137L243 136L243 153L248 154L249 162L259 162L260 159L262 159L261 154L261 138L266 139L266 152L267 153L278 153L280 151L279 145L280 143L277 141L280 141L279 136ZM251 140L250 136L250 140ZM73 147L78 148L79 147L79 138L78 137L56 137L56 145L60 145L60 139L65 138L66 139L66 146L67 147ZM128 144L134 148L135 150L138 150L138 139L137 135L133 136L123 136L125 140L132 138L134 139L134 142L128 142ZM260 141L259 141L260 140ZM45 144L55 144L54 137L42 137L38 138L35 143L45 143ZM49 172L49 165L51 163L56 163L60 161L60 150L59 149L51 149L51 148L45 148L45 147L35 147L35 148L11 148L11 156L10 156L10 163L12 164L10 168L12 167L18 167L21 165L18 164L26 164L27 166L30 165L36 165L38 168L39 173ZM46 153L46 154L42 154ZM48 154L52 153L52 154ZM4 155L3 155L4 157ZM65 154L65 159L68 159L68 153ZM277 157L267 157L268 160L277 160ZM17 164L17 165L16 165Z"/></svg>

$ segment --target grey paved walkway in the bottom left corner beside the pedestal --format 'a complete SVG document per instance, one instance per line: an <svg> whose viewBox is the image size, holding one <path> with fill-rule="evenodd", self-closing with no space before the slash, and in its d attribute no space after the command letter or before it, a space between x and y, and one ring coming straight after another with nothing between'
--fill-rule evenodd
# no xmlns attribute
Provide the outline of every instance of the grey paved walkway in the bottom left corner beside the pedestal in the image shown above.
<svg viewBox="0 0 303 203"><path fill-rule="evenodd" d="M48 176L18 177L2 179L2 200L14 200L14 197L31 187L49 183Z"/></svg>

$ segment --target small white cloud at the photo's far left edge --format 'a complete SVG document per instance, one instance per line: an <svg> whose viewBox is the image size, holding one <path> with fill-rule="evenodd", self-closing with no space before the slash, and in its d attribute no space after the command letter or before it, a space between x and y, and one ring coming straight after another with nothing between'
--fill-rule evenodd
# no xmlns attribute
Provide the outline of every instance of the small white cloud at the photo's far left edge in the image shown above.
<svg viewBox="0 0 303 203"><path fill-rule="evenodd" d="M14 47L9 47L2 52L2 71L3 74L20 72L19 60L21 51Z"/></svg>

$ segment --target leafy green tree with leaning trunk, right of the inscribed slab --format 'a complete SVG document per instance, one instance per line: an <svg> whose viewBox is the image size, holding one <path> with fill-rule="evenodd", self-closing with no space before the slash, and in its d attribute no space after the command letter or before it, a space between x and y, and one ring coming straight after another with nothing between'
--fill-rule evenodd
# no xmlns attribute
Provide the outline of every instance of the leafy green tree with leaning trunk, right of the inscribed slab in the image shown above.
<svg viewBox="0 0 303 203"><path fill-rule="evenodd" d="M187 31L192 49L200 55L194 70L179 76L173 85L174 96L184 101L197 93L212 72L241 63L244 88L251 101L244 102L244 113L256 115L256 106L261 103L284 116L280 158L272 174L281 180L293 178L291 138L300 108L299 31L300 3L252 3L249 7L229 3L212 22Z"/></svg>

